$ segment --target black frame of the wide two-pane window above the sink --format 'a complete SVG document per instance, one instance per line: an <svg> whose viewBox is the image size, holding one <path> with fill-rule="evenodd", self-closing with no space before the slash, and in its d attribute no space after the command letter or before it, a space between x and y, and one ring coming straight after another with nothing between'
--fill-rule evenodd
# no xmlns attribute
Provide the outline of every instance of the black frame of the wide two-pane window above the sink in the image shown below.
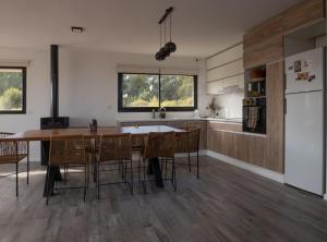
<svg viewBox="0 0 327 242"><path fill-rule="evenodd" d="M159 107L123 107L122 100L122 76L124 74L143 74L143 75L158 75L159 76ZM161 75L185 75L193 77L194 88L194 105L193 107L165 107L166 111L194 111L197 109L197 75L190 74L159 74L159 73L134 73L134 72L118 72L118 112L150 112L153 109L158 111L161 105Z"/></svg>

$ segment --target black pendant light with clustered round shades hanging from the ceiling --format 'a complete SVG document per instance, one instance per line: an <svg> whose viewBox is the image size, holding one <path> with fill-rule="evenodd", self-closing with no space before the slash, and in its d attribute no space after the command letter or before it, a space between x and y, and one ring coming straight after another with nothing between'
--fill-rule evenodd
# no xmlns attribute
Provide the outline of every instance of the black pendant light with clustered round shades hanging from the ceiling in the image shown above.
<svg viewBox="0 0 327 242"><path fill-rule="evenodd" d="M159 47L159 51L156 53L156 60L158 61L162 61L166 59L166 57L169 57L170 53L174 52L177 50L177 45L171 41L171 13L173 11L173 8L170 7L169 9L166 10L166 13L164 14L164 16L160 19L160 21L158 22L158 24L160 25L160 47ZM166 43L166 20L167 17L170 17L170 22L169 22L169 41ZM161 24L165 22L165 41L164 41L164 46L161 45ZM166 43L166 44L165 44Z"/></svg>

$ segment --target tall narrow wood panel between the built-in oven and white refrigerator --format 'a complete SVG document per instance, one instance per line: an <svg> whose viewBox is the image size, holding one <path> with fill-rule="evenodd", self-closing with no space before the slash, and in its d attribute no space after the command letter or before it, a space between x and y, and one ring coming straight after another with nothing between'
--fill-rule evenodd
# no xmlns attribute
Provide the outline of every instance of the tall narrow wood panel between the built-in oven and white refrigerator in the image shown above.
<svg viewBox="0 0 327 242"><path fill-rule="evenodd" d="M267 65L267 159L268 169L283 173L283 61Z"/></svg>

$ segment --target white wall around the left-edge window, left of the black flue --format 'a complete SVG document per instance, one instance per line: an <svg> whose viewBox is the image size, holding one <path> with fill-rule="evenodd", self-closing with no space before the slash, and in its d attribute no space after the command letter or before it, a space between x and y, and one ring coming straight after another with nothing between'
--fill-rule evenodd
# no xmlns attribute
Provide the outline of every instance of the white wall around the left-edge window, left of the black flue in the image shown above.
<svg viewBox="0 0 327 242"><path fill-rule="evenodd" d="M40 117L49 116L49 56L46 51L1 49L0 65L8 61L29 61L26 82L26 114L0 114L0 131L22 132L39 128ZM39 158L39 142L31 144L32 159Z"/></svg>

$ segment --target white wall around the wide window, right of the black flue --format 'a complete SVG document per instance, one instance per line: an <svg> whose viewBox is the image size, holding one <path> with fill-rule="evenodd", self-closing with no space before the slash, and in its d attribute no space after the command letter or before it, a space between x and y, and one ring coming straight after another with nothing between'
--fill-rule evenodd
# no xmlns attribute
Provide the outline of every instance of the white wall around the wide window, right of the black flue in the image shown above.
<svg viewBox="0 0 327 242"><path fill-rule="evenodd" d="M150 118L150 112L118 113L118 65L198 69L198 107L204 110L204 61L195 58L168 58L158 62L153 56L99 52L60 48L60 114L71 117L72 125L87 125L92 118L99 125L114 125L117 119ZM192 112L170 112L169 117L192 117Z"/></svg>

